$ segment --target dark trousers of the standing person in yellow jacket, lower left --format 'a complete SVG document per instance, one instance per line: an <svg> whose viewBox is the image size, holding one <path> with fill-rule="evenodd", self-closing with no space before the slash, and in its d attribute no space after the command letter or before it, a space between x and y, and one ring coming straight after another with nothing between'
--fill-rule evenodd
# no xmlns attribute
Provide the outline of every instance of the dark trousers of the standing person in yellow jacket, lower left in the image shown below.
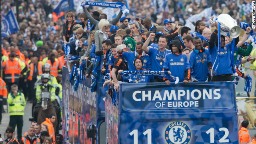
<svg viewBox="0 0 256 144"><path fill-rule="evenodd" d="M10 116L9 126L15 130L17 125L18 141L22 138L23 116Z"/></svg>

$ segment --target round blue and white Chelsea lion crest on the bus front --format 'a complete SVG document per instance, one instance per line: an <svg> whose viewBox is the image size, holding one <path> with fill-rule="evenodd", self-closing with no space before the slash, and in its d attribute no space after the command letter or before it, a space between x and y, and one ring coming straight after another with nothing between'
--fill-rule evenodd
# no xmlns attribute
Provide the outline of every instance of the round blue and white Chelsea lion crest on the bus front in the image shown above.
<svg viewBox="0 0 256 144"><path fill-rule="evenodd" d="M168 144L188 144L191 131L184 122L172 122L167 126L164 138Z"/></svg>

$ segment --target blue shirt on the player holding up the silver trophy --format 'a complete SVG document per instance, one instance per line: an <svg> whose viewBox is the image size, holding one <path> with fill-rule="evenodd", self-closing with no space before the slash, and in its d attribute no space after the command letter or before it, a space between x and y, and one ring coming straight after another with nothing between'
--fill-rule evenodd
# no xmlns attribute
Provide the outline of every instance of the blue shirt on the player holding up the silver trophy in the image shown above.
<svg viewBox="0 0 256 144"><path fill-rule="evenodd" d="M218 52L217 46L214 46L214 48L212 49L209 48L209 52L212 58L212 65L214 65L212 68L212 72L214 72L214 70L218 65L216 76L221 74L233 74L232 67L231 67L231 59L230 59L231 50L232 50L232 42L225 45L224 48L221 48L220 52ZM237 50L237 46L235 46L234 52L236 50ZM214 64L215 60L216 60L216 63Z"/></svg>

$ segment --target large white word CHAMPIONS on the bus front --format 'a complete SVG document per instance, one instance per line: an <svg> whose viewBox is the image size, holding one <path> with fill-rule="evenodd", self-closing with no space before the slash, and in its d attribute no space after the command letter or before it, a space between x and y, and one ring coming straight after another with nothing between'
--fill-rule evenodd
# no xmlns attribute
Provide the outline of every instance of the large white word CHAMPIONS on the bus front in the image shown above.
<svg viewBox="0 0 256 144"><path fill-rule="evenodd" d="M162 92L161 92L162 93ZM209 89L209 90L165 90L162 94L160 94L159 90L156 91L145 91L145 90L136 90L132 94L132 98L134 101L155 101L155 100L199 100L203 99L205 100L206 98L209 100L215 99L218 100L220 99L220 89ZM181 98L182 97L182 98Z"/></svg>

